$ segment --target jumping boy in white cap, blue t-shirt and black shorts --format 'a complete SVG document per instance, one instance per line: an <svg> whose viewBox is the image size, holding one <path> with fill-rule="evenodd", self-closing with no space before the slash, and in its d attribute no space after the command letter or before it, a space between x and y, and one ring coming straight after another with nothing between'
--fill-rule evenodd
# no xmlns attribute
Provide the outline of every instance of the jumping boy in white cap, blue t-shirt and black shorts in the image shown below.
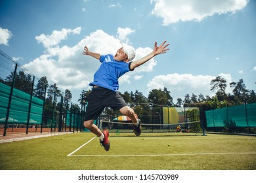
<svg viewBox="0 0 256 183"><path fill-rule="evenodd" d="M83 125L96 136L100 137L100 144L104 146L106 151L110 150L110 141L108 139L108 130L100 131L93 124L93 121L100 116L105 107L111 107L119 110L121 114L131 118L133 122L133 130L136 136L141 133L141 125L137 114L134 110L127 106L123 97L119 95L118 78L129 71L133 71L136 67L146 63L158 54L165 54L169 48L169 44L164 41L160 46L154 44L154 50L142 59L130 62L135 58L135 49L132 46L122 43L122 47L117 50L116 55L107 54L100 55L90 52L87 46L84 48L83 55L92 56L101 62L100 68L94 75L94 80L89 85L93 86L92 92L87 97L88 106L85 112L85 122Z"/></svg>

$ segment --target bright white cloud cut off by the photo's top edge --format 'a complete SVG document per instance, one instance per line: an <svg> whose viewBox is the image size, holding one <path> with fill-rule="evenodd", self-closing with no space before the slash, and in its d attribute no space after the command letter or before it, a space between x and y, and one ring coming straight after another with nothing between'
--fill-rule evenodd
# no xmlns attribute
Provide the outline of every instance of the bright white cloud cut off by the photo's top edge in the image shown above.
<svg viewBox="0 0 256 183"><path fill-rule="evenodd" d="M201 21L213 14L234 13L242 10L249 0L151 0L156 3L152 14L163 18L163 25L179 21Z"/></svg>

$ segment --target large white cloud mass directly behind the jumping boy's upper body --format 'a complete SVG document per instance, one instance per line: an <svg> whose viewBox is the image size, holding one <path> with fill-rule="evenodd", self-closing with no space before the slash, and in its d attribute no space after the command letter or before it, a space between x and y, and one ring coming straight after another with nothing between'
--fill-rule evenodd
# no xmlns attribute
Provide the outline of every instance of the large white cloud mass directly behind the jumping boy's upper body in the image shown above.
<svg viewBox="0 0 256 183"><path fill-rule="evenodd" d="M68 39L69 33L76 32L75 29L62 29L62 31L53 31L51 35L42 34L41 38L37 37L37 40L43 43L45 52L24 67L33 71L39 78L47 76L49 83L56 83L62 90L67 88L69 90L89 89L89 82L93 81L93 75L98 69L100 61L90 56L84 56L82 54L84 46L87 45L89 50L95 53L116 54L121 44L119 39L114 36L108 35L102 30L96 30L77 42L75 46L60 46L62 40ZM51 43L50 40L53 40L54 43ZM152 52L152 48L137 48L136 52L135 60ZM153 71L155 65L156 60L150 59L148 63L138 67L135 71L121 76L119 84L130 84L134 75ZM139 79L139 77L135 76L135 79Z"/></svg>

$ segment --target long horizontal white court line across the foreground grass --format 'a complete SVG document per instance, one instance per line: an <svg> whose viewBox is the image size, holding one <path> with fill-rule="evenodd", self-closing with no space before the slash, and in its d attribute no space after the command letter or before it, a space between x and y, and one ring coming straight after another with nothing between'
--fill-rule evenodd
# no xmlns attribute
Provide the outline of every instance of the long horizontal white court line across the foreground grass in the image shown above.
<svg viewBox="0 0 256 183"><path fill-rule="evenodd" d="M137 157L137 156L195 156L222 154L256 154L256 152L216 152L216 153L188 153L188 154L134 154L134 155L72 155L73 157ZM70 155L71 156L71 155Z"/></svg>

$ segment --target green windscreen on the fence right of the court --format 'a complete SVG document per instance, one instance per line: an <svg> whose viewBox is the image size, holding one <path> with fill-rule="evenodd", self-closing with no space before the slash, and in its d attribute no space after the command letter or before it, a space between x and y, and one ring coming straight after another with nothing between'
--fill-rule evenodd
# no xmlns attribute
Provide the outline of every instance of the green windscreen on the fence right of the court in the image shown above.
<svg viewBox="0 0 256 183"><path fill-rule="evenodd" d="M256 127L256 103L205 111L207 127Z"/></svg>

